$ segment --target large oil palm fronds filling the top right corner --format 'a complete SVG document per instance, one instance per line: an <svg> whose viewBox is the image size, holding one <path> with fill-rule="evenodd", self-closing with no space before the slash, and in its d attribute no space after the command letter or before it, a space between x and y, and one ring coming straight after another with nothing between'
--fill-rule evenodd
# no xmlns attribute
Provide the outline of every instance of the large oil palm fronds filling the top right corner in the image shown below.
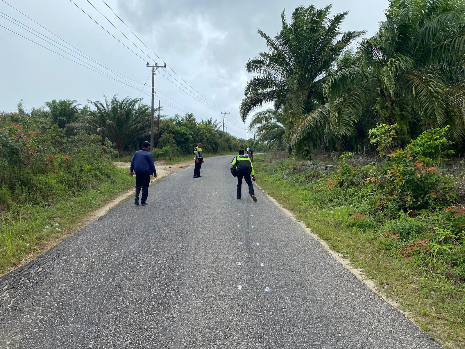
<svg viewBox="0 0 465 349"><path fill-rule="evenodd" d="M392 0L378 33L359 45L356 63L328 79L327 104L296 122L292 141L321 124L335 136L351 134L370 106L386 123L418 115L423 127L450 125L449 136L461 141L464 24L463 0Z"/></svg>

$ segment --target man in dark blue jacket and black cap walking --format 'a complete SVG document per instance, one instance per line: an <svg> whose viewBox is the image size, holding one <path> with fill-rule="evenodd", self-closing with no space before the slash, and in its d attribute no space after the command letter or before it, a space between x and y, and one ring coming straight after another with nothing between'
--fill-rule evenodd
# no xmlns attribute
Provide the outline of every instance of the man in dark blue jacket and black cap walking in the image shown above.
<svg viewBox="0 0 465 349"><path fill-rule="evenodd" d="M139 205L139 193L140 188L142 188L140 203L142 206L146 206L150 176L153 174L153 179L157 178L153 156L150 154L150 143L147 141L142 143L142 150L136 151L131 159L131 177L134 175L134 170L136 171L136 198L134 204Z"/></svg>

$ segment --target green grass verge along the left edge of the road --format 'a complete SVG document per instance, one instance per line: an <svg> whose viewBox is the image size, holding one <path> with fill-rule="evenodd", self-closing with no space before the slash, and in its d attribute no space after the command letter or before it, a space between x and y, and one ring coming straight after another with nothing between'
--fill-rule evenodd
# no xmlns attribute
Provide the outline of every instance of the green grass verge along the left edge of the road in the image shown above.
<svg viewBox="0 0 465 349"><path fill-rule="evenodd" d="M0 275L48 243L60 241L84 216L133 185L126 169L112 168L109 180L96 181L89 189L54 198L46 205L13 203L0 212Z"/></svg>

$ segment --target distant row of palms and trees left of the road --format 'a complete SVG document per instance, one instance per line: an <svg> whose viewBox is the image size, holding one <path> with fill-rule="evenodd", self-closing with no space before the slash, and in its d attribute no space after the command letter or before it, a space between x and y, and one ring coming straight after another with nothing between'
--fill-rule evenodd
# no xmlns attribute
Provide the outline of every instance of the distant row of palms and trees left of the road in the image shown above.
<svg viewBox="0 0 465 349"><path fill-rule="evenodd" d="M157 113L158 108L155 108ZM0 117L0 127L29 124L29 128L34 128L34 121L35 124L46 121L67 137L81 133L98 134L102 141L113 144L120 154L140 149L141 143L150 137L151 109L141 98L119 99L114 95L110 99L104 96L103 101L88 101L85 106L76 100L53 100L46 102L44 107L29 111L20 101L16 112L1 113ZM199 122L192 113L162 115L159 137L159 149L154 151L168 157L191 154L198 141L207 153L237 151L254 145L263 148L253 140L246 141L228 133L223 138L218 121L210 118ZM157 126L154 146L157 147Z"/></svg>

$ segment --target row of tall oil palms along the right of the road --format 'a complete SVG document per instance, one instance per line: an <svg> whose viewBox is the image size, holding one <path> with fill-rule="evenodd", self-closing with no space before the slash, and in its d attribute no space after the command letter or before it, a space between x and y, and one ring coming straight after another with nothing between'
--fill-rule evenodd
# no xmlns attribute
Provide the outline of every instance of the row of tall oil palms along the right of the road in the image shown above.
<svg viewBox="0 0 465 349"><path fill-rule="evenodd" d="M240 106L259 141L292 154L314 148L363 151L368 130L397 124L396 146L426 129L447 128L462 150L465 135L465 1L391 0L376 34L341 32L348 12L283 11L268 50L249 59L254 74Z"/></svg>

